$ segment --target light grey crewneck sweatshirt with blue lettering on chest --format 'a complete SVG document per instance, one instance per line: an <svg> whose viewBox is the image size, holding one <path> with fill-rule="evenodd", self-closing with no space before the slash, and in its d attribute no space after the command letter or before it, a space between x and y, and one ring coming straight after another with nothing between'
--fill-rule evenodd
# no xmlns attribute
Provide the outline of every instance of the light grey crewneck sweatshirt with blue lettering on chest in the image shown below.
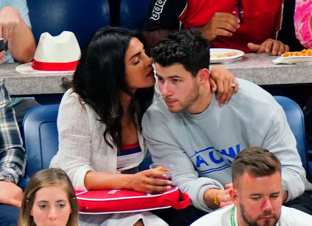
<svg viewBox="0 0 312 226"><path fill-rule="evenodd" d="M287 201L305 190L305 170L283 108L258 85L237 81L238 92L223 107L214 97L200 114L171 113L160 97L142 121L153 162L175 165L173 184L206 212L213 209L204 202L205 191L232 182L232 160L246 147L264 147L278 157Z"/></svg>

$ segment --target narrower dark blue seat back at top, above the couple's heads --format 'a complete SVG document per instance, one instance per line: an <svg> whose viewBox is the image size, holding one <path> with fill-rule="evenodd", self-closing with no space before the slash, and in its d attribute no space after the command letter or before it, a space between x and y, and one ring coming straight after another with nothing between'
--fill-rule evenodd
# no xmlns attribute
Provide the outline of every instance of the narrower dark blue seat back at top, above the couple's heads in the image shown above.
<svg viewBox="0 0 312 226"><path fill-rule="evenodd" d="M120 26L129 29L142 29L149 0L121 0Z"/></svg>

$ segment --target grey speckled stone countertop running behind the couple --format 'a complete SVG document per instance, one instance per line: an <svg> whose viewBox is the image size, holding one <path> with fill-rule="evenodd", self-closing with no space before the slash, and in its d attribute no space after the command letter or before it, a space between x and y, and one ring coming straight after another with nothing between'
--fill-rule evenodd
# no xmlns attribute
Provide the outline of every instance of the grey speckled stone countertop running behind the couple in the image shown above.
<svg viewBox="0 0 312 226"><path fill-rule="evenodd" d="M274 64L278 56L268 53L245 54L241 60L221 65L236 77L258 85L312 83L312 64ZM71 78L71 73L21 74L15 70L19 63L0 65L0 77L5 79L11 95L36 95L63 93L60 85L62 77Z"/></svg>

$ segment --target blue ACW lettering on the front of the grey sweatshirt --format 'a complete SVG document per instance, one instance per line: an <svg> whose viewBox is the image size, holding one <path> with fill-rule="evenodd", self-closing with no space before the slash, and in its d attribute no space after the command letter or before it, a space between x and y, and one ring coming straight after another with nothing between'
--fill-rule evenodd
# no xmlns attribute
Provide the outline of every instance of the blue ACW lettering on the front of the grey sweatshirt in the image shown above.
<svg viewBox="0 0 312 226"><path fill-rule="evenodd" d="M214 147L207 147L203 150L196 151L193 156L190 156L190 159L199 172L208 174L231 167L232 160L240 151L239 144L235 147L221 150L217 150Z"/></svg>

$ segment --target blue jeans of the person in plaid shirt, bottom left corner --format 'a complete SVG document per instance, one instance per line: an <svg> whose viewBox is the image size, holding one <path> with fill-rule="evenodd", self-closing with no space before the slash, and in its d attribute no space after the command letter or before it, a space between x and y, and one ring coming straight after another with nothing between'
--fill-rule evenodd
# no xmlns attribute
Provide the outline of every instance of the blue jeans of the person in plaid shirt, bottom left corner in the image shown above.
<svg viewBox="0 0 312 226"><path fill-rule="evenodd" d="M19 217L19 208L16 206L0 204L0 225L16 226Z"/></svg>

